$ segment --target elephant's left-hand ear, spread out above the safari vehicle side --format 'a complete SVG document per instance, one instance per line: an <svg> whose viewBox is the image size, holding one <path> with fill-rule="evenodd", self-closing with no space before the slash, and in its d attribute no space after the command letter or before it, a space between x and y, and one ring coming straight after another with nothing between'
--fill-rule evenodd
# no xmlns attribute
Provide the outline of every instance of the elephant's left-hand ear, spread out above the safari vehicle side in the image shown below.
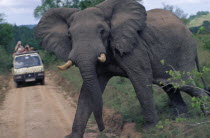
<svg viewBox="0 0 210 138"><path fill-rule="evenodd" d="M78 9L73 8L50 9L35 28L35 36L41 40L41 45L63 60L68 59L68 54L72 49L67 22L77 11Z"/></svg>

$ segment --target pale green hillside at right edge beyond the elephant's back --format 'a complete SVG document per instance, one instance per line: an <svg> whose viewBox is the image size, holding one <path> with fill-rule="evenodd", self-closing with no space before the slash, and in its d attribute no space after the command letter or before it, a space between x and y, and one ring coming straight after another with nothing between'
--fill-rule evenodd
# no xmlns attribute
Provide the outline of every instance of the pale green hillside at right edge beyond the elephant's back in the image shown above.
<svg viewBox="0 0 210 138"><path fill-rule="evenodd" d="M202 15L200 17L197 17L193 20L191 20L189 23L188 23L188 27L191 28L191 27L197 27L197 26L201 26L203 24L204 21L209 21L210 22L210 14L208 15Z"/></svg>

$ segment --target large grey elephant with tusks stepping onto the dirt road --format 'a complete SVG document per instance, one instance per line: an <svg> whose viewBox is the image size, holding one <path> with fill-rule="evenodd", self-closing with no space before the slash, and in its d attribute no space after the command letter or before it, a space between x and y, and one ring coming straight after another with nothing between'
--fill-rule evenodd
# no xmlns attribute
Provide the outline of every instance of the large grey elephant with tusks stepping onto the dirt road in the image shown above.
<svg viewBox="0 0 210 138"><path fill-rule="evenodd" d="M179 112L187 110L180 91L195 97L207 96L193 82L177 89L167 83L171 77L168 70L199 69L192 33L169 11L146 11L135 0L105 0L84 10L54 8L43 15L35 36L46 50L66 62L58 66L60 70L75 65L83 79L72 132L67 137L82 138L92 113L99 130L105 129L102 94L113 76L130 79L146 126L158 121L152 84L166 91Z"/></svg>

